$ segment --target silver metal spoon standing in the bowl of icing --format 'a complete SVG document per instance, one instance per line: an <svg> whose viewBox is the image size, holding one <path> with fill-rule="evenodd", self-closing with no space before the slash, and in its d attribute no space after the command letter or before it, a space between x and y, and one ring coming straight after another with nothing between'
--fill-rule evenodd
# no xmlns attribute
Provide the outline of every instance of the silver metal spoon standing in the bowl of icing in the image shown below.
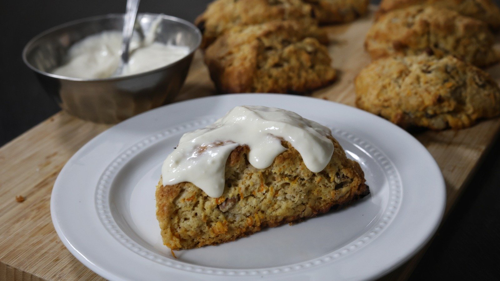
<svg viewBox="0 0 500 281"><path fill-rule="evenodd" d="M121 44L121 55L118 63L118 68L114 71L112 76L119 76L123 70L128 66L128 59L130 58L130 41L132 39L133 25L137 17L137 9L139 8L140 0L127 0L126 13L123 19L123 41Z"/></svg>

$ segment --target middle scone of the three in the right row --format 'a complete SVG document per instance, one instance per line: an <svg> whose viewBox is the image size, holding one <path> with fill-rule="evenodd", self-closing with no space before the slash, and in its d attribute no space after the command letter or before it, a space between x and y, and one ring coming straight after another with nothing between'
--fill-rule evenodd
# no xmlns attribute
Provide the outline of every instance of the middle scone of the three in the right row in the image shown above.
<svg viewBox="0 0 500 281"><path fill-rule="evenodd" d="M415 5L390 11L368 30L365 48L372 59L426 52L453 55L477 66L498 61L486 23L455 11Z"/></svg>

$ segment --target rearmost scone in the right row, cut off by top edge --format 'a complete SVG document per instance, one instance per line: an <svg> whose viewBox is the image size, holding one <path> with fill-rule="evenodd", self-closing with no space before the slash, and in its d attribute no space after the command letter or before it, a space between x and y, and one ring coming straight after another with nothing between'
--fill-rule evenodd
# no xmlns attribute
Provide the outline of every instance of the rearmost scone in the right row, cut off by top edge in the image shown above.
<svg viewBox="0 0 500 281"><path fill-rule="evenodd" d="M483 20L493 29L500 27L500 8L491 0L382 0L375 18L394 9L418 4L452 9L459 14Z"/></svg>

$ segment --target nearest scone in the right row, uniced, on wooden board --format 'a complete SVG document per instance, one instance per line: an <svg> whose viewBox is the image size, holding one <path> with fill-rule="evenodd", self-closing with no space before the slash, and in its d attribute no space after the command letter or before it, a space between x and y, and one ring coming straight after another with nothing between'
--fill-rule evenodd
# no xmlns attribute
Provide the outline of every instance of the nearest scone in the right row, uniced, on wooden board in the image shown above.
<svg viewBox="0 0 500 281"><path fill-rule="evenodd" d="M453 56L382 58L355 79L356 106L401 127L463 128L500 113L500 89Z"/></svg>

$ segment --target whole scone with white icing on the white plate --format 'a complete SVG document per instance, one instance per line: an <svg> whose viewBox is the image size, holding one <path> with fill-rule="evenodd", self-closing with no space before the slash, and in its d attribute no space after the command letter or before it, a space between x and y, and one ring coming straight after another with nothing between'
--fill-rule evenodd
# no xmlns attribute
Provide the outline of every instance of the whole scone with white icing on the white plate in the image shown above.
<svg viewBox="0 0 500 281"><path fill-rule="evenodd" d="M283 109L237 106L182 136L163 163L156 217L163 243L188 249L313 217L368 193L359 164L328 128Z"/></svg>

